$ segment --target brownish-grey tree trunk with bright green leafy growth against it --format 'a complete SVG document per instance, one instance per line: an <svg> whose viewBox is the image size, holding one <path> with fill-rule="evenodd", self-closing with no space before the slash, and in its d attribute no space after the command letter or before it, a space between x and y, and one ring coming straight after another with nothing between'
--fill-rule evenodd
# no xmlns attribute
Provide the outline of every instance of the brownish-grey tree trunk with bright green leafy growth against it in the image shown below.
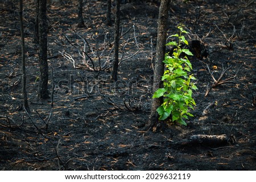
<svg viewBox="0 0 256 182"><path fill-rule="evenodd" d="M159 7L158 18L158 38L156 40L156 57L154 68L154 84L153 92L162 87L162 76L164 73L164 56L166 54L166 38L167 38L167 19L168 19L168 7L170 0L163 0ZM152 99L151 115L147 126L152 128L158 122L158 112L156 109L163 103L163 98Z"/></svg>

